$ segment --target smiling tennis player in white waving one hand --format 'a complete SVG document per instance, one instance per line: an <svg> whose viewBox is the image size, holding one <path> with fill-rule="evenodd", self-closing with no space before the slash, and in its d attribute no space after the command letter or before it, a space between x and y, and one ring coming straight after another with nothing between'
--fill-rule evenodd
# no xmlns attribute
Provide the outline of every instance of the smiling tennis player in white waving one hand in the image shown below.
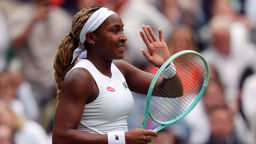
<svg viewBox="0 0 256 144"><path fill-rule="evenodd" d="M123 26L116 13L100 6L75 15L71 32L63 38L55 57L59 104L53 144L144 144L151 142L148 136L157 136L151 130L127 128L133 109L130 90L146 94L154 75L120 60L127 40ZM142 49L142 53L161 67L170 57L162 31L159 29L159 42L149 26L142 28L146 35L142 30L140 35L149 50ZM166 69L175 70L173 65ZM175 71L165 76L167 80L176 77Z"/></svg>

